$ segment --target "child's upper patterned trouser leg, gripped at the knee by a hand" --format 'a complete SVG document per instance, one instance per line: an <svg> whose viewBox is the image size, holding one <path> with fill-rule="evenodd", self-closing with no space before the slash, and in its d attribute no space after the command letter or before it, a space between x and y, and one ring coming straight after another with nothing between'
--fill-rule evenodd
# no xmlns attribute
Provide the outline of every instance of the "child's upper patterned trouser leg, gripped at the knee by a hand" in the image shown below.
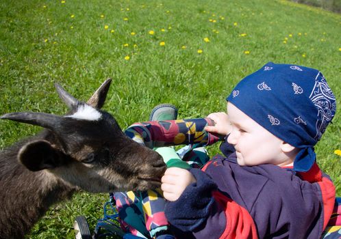
<svg viewBox="0 0 341 239"><path fill-rule="evenodd" d="M206 146L223 140L223 137L204 130L205 126L212 125L214 122L210 118L140 122L129 126L125 135L149 148L190 144Z"/></svg>

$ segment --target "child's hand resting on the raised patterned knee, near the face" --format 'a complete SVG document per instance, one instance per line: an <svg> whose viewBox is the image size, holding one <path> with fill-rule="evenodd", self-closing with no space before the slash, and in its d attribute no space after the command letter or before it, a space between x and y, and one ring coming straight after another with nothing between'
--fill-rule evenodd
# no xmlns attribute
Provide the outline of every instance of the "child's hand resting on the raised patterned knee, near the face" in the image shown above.
<svg viewBox="0 0 341 239"><path fill-rule="evenodd" d="M207 132L215 133L218 135L229 135L231 132L231 123L229 122L229 116L224 112L210 113L208 115L210 119L216 123L214 126L206 126Z"/></svg>

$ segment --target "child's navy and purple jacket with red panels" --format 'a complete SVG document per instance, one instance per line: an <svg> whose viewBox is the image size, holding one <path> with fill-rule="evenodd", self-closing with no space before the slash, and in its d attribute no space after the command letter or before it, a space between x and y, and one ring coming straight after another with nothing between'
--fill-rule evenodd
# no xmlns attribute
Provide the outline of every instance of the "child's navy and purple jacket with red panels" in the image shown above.
<svg viewBox="0 0 341 239"><path fill-rule="evenodd" d="M276 165L242 167L231 145L223 143L177 201L166 203L166 217L177 238L320 238L335 187L315 165L304 175Z"/></svg>

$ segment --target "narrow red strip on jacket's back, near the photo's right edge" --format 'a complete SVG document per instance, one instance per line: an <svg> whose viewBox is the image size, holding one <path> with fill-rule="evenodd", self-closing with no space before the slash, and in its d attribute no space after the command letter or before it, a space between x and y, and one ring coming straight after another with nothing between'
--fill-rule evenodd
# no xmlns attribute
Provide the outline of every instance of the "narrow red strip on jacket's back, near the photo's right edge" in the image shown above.
<svg viewBox="0 0 341 239"><path fill-rule="evenodd" d="M321 188L322 198L323 198L323 229L327 227L328 221L333 213L333 208L335 204L335 186L331 180L323 177L321 182L318 182Z"/></svg>

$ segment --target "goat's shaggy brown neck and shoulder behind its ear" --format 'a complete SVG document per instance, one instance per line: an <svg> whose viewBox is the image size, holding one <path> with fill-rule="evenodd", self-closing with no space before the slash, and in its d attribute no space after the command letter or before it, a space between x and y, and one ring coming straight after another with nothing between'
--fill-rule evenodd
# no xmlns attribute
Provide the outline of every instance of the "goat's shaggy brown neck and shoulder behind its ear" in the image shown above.
<svg viewBox="0 0 341 239"><path fill-rule="evenodd" d="M69 199L75 192L74 187L47 170L33 172L23 167L17 154L24 143L18 142L0 152L1 239L23 238L50 206Z"/></svg>

